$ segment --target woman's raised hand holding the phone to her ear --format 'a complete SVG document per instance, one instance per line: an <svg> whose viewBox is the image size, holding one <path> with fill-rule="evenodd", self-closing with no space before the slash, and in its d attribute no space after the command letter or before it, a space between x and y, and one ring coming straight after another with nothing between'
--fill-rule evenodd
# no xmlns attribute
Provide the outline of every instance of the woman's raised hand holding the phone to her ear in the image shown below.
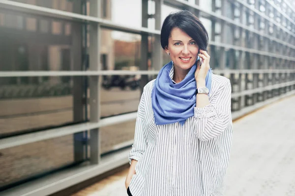
<svg viewBox="0 0 295 196"><path fill-rule="evenodd" d="M196 81L205 81L208 70L210 69L209 61L210 56L208 55L207 51L200 49L200 60L203 60L203 63L200 66L200 60L198 61L198 67L195 73Z"/></svg>

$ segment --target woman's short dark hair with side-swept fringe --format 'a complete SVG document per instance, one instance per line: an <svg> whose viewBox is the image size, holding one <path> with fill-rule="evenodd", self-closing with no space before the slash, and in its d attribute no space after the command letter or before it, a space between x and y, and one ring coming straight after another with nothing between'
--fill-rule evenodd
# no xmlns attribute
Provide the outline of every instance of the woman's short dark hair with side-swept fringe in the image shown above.
<svg viewBox="0 0 295 196"><path fill-rule="evenodd" d="M190 11L183 10L169 14L161 29L161 46L165 49L168 46L168 39L174 28L179 28L193 38L199 49L207 51L208 32L202 22Z"/></svg>

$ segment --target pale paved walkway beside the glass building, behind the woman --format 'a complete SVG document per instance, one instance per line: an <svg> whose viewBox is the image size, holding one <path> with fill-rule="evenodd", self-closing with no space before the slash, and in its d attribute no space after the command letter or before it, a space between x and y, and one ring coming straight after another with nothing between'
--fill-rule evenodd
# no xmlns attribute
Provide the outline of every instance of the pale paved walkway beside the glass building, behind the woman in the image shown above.
<svg viewBox="0 0 295 196"><path fill-rule="evenodd" d="M295 196L295 96L234 123L225 196ZM127 170L72 196L126 196Z"/></svg>

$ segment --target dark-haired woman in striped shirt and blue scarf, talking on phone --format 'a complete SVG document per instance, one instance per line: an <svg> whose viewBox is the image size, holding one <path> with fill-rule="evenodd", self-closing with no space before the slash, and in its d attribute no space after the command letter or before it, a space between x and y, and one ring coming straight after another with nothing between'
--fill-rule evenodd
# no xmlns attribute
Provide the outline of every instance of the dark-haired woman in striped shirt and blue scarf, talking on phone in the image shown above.
<svg viewBox="0 0 295 196"><path fill-rule="evenodd" d="M129 196L222 196L232 143L231 84L209 67L208 34L189 11L170 14L161 46L171 57L138 107Z"/></svg>

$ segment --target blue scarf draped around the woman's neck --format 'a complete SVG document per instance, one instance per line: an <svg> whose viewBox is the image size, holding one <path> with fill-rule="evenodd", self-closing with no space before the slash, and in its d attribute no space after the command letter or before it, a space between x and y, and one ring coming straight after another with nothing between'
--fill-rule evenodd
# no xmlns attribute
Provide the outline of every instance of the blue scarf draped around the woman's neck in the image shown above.
<svg viewBox="0 0 295 196"><path fill-rule="evenodd" d="M198 58L199 59L199 58ZM173 62L166 64L159 72L151 92L151 103L156 125L179 122L183 125L186 119L194 116L196 107L197 65L193 65L185 78L175 84L169 73ZM206 76L206 87L211 89L212 71Z"/></svg>

